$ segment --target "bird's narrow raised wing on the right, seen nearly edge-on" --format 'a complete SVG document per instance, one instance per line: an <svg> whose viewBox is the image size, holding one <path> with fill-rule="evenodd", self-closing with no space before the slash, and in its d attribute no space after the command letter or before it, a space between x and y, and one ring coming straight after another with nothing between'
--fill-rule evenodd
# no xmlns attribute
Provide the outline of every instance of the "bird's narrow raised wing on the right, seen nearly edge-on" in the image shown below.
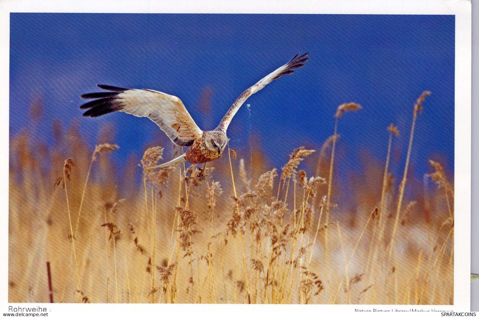
<svg viewBox="0 0 479 317"><path fill-rule="evenodd" d="M228 129L228 125L233 119L234 115L238 112L239 108L243 104L243 102L248 99L253 93L262 90L264 86L272 82L274 79L278 79L283 75L289 75L294 73L293 69L300 68L304 66L304 63L309 59L307 58L309 53L303 54L299 56L299 53L296 54L289 62L285 65L281 66L280 68L276 69L274 72L268 74L266 77L258 81L256 84L248 88L247 90L243 91L242 94L233 102L231 107L229 108L228 112L225 114L219 125L217 126L216 130L222 130L226 133Z"/></svg>

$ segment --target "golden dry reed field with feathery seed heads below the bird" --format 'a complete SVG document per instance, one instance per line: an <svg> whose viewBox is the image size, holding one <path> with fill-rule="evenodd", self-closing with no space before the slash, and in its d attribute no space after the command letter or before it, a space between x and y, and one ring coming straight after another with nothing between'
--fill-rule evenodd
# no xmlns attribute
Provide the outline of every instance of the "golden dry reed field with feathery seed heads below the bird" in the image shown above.
<svg viewBox="0 0 479 317"><path fill-rule="evenodd" d="M427 94L411 131L385 125L386 164L365 162L347 189L354 211L335 199L338 123L354 103L322 147L291 149L278 170L259 147L228 148L203 173L155 170L163 148L151 147L116 175L102 137L89 148L57 123L47 146L25 129L10 140L9 302L453 304L453 180L431 161L428 190L404 194ZM397 137L410 143L395 182Z"/></svg>

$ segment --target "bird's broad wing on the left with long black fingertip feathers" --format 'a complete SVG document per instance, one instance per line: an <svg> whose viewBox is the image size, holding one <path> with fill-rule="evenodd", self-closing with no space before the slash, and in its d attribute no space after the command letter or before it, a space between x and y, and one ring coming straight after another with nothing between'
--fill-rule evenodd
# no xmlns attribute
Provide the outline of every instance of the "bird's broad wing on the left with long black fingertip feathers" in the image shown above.
<svg viewBox="0 0 479 317"><path fill-rule="evenodd" d="M81 95L82 98L95 99L80 106L80 109L88 109L83 116L98 117L121 111L137 117L148 117L170 137L174 144L182 147L192 145L194 139L203 134L183 102L176 96L149 89L97 86L108 91Z"/></svg>

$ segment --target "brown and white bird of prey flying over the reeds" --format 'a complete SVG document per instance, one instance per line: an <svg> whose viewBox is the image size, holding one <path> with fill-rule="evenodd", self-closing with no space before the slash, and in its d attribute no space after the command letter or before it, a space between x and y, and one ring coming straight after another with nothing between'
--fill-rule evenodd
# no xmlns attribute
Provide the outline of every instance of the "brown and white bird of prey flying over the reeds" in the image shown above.
<svg viewBox="0 0 479 317"><path fill-rule="evenodd" d="M298 53L285 65L243 91L233 102L216 129L212 131L202 131L196 125L180 98L150 89L128 89L97 85L108 91L81 95L82 98L94 100L81 105L80 109L88 109L83 113L83 116L86 117L98 117L116 111L133 114L137 117L148 117L170 137L171 142L175 145L189 147L183 155L158 165L157 168L164 168L185 161L192 164L206 164L221 158L228 142L226 136L228 125L246 99L274 79L292 74L293 69L303 67L308 60L307 56L308 53L301 56Z"/></svg>

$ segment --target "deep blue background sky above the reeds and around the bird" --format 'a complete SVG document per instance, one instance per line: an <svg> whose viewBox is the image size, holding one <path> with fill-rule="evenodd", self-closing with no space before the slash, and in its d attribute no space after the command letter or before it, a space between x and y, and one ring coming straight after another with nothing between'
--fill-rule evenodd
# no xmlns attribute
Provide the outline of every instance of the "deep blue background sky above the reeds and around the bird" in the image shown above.
<svg viewBox="0 0 479 317"><path fill-rule="evenodd" d="M301 51L310 53L304 68L240 109L228 129L232 147L247 148L255 133L281 167L295 147L319 149L333 133L337 106L357 102L364 109L339 123L338 169L360 170L363 150L384 160L386 127L394 123L402 136L392 168L400 174L413 104L429 90L416 126L413 173L429 172L430 158L454 169L454 16L11 13L10 31L11 136L31 124L28 106L40 98L46 116L39 138L51 142L55 118L65 125L78 120L93 148L100 126L113 123L121 147L115 158L124 163L129 153L141 157L152 139L168 140L146 118L81 117L80 94L100 91L98 83L163 91L180 97L208 130L242 91ZM211 115L199 110L205 91Z"/></svg>

